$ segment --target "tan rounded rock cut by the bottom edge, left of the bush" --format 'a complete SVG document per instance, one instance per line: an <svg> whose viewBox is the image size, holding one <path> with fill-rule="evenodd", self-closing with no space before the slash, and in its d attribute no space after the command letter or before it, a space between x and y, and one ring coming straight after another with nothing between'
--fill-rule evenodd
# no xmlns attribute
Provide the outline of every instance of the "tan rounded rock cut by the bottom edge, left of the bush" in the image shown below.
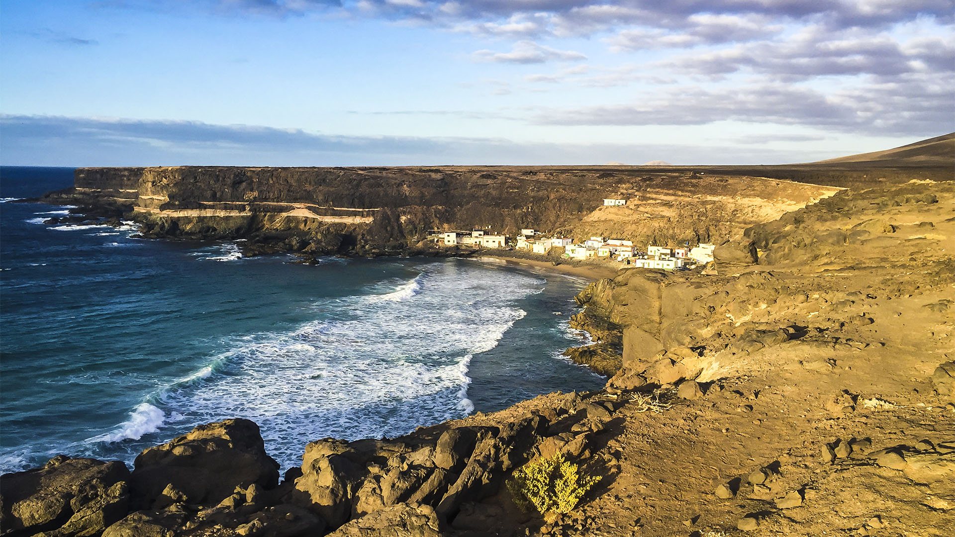
<svg viewBox="0 0 955 537"><path fill-rule="evenodd" d="M441 537L435 509L397 504L350 521L328 537Z"/></svg>

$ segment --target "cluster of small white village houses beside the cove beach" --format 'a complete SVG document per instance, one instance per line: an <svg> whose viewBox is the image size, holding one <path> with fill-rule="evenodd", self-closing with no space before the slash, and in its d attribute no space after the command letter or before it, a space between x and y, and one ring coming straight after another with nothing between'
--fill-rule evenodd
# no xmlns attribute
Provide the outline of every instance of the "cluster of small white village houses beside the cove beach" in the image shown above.
<svg viewBox="0 0 955 537"><path fill-rule="evenodd" d="M624 205L626 200L605 199L605 205ZM429 237L439 247L470 246L475 248L514 248L528 252L551 255L558 253L563 259L586 261L601 260L620 263L626 267L642 269L690 269L713 260L715 245L702 243L695 247L661 247L648 245L646 250L634 246L626 239L590 237L575 244L569 237L546 237L536 229L524 228L514 238L498 235L483 229L440 230L433 229ZM561 248L554 251L555 248Z"/></svg>

